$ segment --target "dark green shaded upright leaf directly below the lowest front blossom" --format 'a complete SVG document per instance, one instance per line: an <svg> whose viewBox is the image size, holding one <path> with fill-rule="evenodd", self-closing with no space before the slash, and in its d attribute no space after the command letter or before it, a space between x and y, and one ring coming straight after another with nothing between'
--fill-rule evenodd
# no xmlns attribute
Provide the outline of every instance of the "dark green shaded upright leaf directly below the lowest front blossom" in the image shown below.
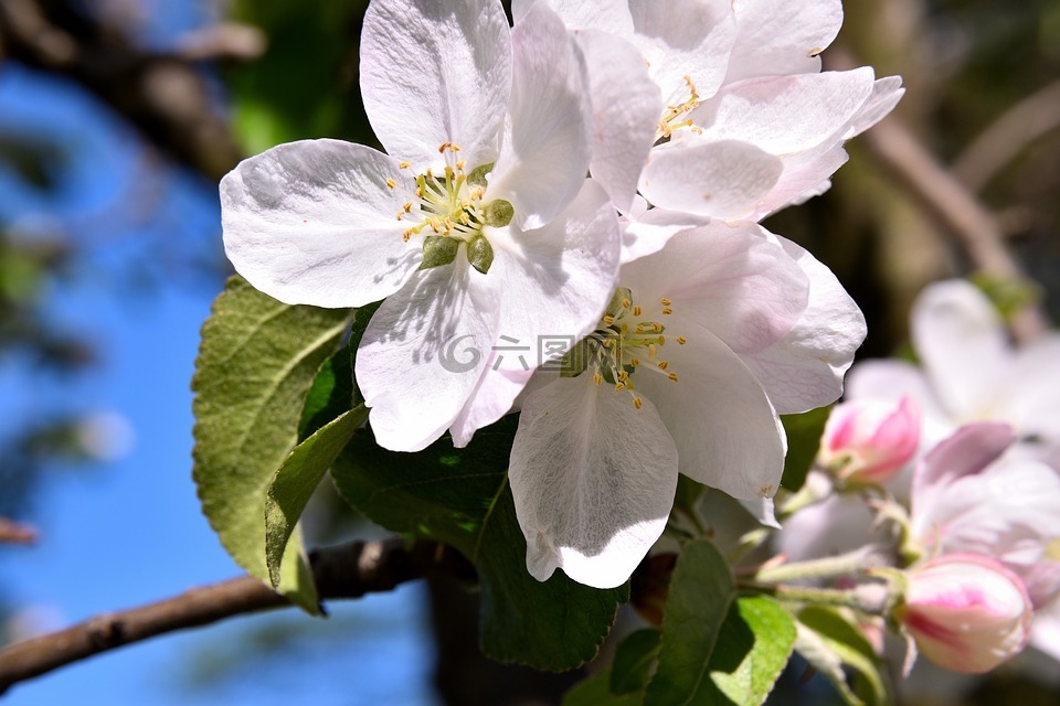
<svg viewBox="0 0 1060 706"><path fill-rule="evenodd" d="M734 596L732 573L714 545L686 544L670 579L659 666L646 706L696 703L709 688L710 657Z"/></svg>

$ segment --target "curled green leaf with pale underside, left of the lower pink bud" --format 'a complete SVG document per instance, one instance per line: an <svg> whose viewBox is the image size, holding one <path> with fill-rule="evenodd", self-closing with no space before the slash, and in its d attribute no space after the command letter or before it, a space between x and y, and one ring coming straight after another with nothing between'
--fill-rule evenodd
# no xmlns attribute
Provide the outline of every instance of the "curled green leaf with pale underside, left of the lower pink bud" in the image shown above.
<svg viewBox="0 0 1060 706"><path fill-rule="evenodd" d="M880 659L857 627L834 608L804 608L797 618L796 651L836 686L846 703L890 703L890 687ZM842 665L860 677L859 693L847 684Z"/></svg>

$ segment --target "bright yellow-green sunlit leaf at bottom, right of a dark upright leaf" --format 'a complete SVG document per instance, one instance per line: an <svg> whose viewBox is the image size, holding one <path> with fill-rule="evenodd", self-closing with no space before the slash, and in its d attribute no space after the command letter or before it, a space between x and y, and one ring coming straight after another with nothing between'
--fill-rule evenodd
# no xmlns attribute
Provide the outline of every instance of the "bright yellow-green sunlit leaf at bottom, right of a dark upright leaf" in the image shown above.
<svg viewBox="0 0 1060 706"><path fill-rule="evenodd" d="M763 596L736 599L710 656L711 684L696 704L759 706L787 665L795 621Z"/></svg>

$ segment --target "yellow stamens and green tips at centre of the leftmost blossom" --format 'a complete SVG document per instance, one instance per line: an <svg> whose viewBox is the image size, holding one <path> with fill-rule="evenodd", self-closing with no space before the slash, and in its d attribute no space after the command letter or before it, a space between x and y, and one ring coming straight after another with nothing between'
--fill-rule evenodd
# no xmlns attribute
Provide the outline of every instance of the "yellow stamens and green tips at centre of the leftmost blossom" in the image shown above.
<svg viewBox="0 0 1060 706"><path fill-rule="evenodd" d="M467 163L458 159L460 148L452 142L438 147L445 157L441 174L427 169L416 176L416 200L406 201L398 212L398 220L410 223L402 233L409 240L423 235L423 264L420 269L441 267L452 263L460 244L467 246L467 259L484 275L494 260L494 250L483 234L483 226L502 227L511 222L513 210L502 199L486 202L486 174L492 164L484 164L470 173ZM411 169L401 162L402 169ZM396 181L389 179L393 189Z"/></svg>

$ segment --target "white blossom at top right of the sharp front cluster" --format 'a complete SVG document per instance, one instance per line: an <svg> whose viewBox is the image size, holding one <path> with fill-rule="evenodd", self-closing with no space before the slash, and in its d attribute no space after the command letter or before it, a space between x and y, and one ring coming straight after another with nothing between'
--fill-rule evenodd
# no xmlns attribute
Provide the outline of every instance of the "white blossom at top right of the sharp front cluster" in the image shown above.
<svg viewBox="0 0 1060 706"><path fill-rule="evenodd" d="M655 147L646 165L630 167L656 208L757 221L817 195L847 159L842 142L887 115L903 93L898 77L876 81L868 67L819 73L817 54L841 23L839 0L516 0L517 24L549 1L577 35L608 32L647 64L660 96ZM584 49L591 76L615 55ZM621 85L611 88L616 93L594 92L595 98L621 104ZM603 179L598 167L593 174ZM610 193L629 211L632 190ZM624 259L661 247L676 232L640 237L640 250Z"/></svg>

